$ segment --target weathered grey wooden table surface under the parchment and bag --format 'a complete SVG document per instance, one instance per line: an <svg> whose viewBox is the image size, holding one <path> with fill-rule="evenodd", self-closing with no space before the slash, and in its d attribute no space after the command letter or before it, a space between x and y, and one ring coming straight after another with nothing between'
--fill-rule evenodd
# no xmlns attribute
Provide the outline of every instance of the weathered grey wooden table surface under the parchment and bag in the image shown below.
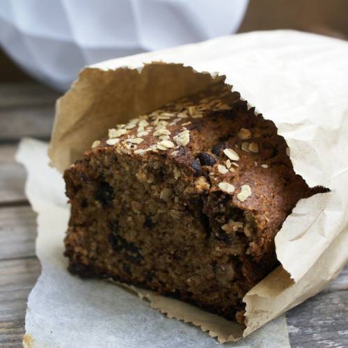
<svg viewBox="0 0 348 348"><path fill-rule="evenodd" d="M58 94L38 83L0 84L0 347L22 347L26 299L40 274L35 213L15 162L22 136L49 140ZM347 246L348 250L348 246ZM348 347L348 267L287 313L292 347Z"/></svg>

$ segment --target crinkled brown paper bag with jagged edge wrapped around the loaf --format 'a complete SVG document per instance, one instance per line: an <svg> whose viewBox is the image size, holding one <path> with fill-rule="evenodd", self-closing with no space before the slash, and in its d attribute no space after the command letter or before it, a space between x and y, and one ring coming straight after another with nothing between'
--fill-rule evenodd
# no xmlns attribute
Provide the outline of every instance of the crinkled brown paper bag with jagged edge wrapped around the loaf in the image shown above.
<svg viewBox="0 0 348 348"><path fill-rule="evenodd" d="M226 77L226 83L233 85L265 118L275 122L290 146L296 173L312 187L331 189L330 193L301 200L278 232L276 251L283 267L246 294L245 336L322 290L347 262L347 60L346 42L294 31L273 31L229 36L100 63L83 70L72 89L57 103L49 148L52 164L63 170L117 122L209 84L223 84ZM148 64L143 66L143 62ZM30 164L27 166L30 170ZM29 198L31 194L29 189ZM49 196L46 199L51 200ZM40 209L36 209L41 213L39 219ZM61 214L67 214L62 209ZM52 215L51 209L45 209L45 214ZM55 219L51 216L49 221ZM65 227L54 225L60 230ZM42 225L46 234L48 227ZM61 286L65 288L64 283ZM235 324L196 312L196 308L185 303L173 303L174 300L151 294L146 297L169 317L203 326L221 342L242 335ZM31 298L29 308L30 305ZM32 322L29 313L27 331Z"/></svg>

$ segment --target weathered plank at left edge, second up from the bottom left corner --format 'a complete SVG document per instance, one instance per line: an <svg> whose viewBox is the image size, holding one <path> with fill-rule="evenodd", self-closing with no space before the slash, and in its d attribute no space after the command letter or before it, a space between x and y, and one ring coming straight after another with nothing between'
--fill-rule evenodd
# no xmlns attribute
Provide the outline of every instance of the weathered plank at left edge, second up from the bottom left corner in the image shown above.
<svg viewBox="0 0 348 348"><path fill-rule="evenodd" d="M35 255L36 214L29 205L0 208L0 261Z"/></svg>

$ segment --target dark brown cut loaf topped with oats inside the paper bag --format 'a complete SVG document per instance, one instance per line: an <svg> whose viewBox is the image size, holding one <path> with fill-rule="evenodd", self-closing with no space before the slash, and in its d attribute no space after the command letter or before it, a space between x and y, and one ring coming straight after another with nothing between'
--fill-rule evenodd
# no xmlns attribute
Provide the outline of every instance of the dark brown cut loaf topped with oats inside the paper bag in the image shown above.
<svg viewBox="0 0 348 348"><path fill-rule="evenodd" d="M107 129L106 129L107 132ZM244 322L242 298L277 265L300 198L273 122L212 87L109 129L65 171L69 270Z"/></svg>

